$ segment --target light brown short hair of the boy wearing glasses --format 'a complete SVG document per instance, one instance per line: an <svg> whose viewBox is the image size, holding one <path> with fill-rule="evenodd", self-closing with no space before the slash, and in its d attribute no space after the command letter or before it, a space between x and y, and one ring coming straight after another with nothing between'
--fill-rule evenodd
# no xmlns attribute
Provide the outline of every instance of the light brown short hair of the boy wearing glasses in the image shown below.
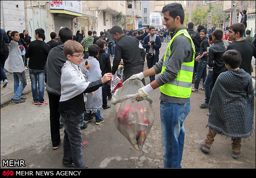
<svg viewBox="0 0 256 178"><path fill-rule="evenodd" d="M64 43L63 52L64 55L73 55L75 52L83 52L83 46L77 41L68 40Z"/></svg>

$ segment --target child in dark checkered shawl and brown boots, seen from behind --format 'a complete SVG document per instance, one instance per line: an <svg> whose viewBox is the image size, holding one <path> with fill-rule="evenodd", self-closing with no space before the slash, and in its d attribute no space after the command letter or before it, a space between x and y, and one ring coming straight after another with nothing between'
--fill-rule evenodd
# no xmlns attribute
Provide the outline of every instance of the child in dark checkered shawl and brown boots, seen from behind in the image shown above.
<svg viewBox="0 0 256 178"><path fill-rule="evenodd" d="M250 74L239 68L239 51L228 50L222 59L228 71L219 74L213 87L207 123L209 131L205 140L200 141L200 147L209 153L216 134L225 135L232 140L232 157L238 159L242 155L241 138L253 132L253 82Z"/></svg>

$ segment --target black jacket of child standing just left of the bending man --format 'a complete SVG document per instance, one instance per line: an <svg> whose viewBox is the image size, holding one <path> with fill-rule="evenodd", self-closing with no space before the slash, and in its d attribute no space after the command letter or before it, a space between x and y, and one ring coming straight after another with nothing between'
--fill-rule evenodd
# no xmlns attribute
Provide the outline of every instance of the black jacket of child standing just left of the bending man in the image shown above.
<svg viewBox="0 0 256 178"><path fill-rule="evenodd" d="M111 64L109 54L106 53L103 49L99 51L99 56L97 57L99 61L100 70L102 71L102 77L106 73L111 72Z"/></svg>

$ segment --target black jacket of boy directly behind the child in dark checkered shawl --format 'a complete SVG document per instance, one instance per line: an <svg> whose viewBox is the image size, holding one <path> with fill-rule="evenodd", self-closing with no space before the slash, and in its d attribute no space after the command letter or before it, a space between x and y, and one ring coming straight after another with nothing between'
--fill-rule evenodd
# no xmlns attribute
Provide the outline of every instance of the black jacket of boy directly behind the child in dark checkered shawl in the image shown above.
<svg viewBox="0 0 256 178"><path fill-rule="evenodd" d="M213 67L213 73L220 74L227 70L225 63L222 60L222 54L224 52L225 47L222 40L216 41L213 45L210 46L208 52L208 65Z"/></svg>

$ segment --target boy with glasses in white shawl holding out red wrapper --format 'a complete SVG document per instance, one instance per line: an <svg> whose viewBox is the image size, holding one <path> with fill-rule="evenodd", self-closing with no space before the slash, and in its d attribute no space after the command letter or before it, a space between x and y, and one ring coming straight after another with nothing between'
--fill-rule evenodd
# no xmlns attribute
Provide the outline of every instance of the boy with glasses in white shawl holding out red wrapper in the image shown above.
<svg viewBox="0 0 256 178"><path fill-rule="evenodd" d="M103 83L111 80L112 75L108 73L99 80L86 82L81 69L78 67L83 59L83 46L76 41L68 40L64 44L63 52L68 60L61 70L61 97L59 101L59 112L65 127L62 163L63 166L71 166L74 163L74 168L86 168L83 163L80 130L80 115L84 112L83 93L94 92L99 89Z"/></svg>

